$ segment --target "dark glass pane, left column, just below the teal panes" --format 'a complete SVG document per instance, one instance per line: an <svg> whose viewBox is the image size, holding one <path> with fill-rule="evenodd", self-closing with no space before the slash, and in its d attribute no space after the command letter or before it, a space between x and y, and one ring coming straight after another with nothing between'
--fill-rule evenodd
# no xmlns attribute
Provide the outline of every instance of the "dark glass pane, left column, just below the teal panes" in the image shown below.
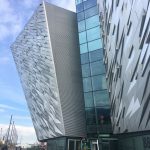
<svg viewBox="0 0 150 150"><path fill-rule="evenodd" d="M95 110L94 108L88 108L86 111L86 124L96 124Z"/></svg>

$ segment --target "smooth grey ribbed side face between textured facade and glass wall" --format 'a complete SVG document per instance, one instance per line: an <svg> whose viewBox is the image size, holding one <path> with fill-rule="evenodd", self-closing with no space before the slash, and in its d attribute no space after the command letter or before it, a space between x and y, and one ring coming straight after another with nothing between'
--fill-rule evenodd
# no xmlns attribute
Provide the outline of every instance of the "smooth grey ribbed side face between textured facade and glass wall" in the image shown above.
<svg viewBox="0 0 150 150"><path fill-rule="evenodd" d="M46 5L50 38L67 136L86 136L76 14Z"/></svg>

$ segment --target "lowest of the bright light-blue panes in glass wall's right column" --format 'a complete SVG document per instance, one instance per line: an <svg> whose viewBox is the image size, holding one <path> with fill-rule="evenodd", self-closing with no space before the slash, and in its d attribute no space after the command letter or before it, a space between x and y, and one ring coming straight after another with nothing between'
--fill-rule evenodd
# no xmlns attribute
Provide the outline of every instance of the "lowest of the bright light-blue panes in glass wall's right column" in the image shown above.
<svg viewBox="0 0 150 150"><path fill-rule="evenodd" d="M101 41L101 39L89 42L88 43L88 48L89 48L89 51L94 51L96 49L101 49L102 48L102 41Z"/></svg>

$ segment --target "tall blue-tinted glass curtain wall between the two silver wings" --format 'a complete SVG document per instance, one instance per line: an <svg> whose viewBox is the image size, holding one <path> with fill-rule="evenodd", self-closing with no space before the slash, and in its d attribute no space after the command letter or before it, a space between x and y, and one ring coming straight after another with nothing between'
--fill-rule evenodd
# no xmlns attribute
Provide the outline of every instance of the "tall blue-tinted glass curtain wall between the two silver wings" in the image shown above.
<svg viewBox="0 0 150 150"><path fill-rule="evenodd" d="M110 133L110 103L103 64L97 0L76 0L88 137Z"/></svg>

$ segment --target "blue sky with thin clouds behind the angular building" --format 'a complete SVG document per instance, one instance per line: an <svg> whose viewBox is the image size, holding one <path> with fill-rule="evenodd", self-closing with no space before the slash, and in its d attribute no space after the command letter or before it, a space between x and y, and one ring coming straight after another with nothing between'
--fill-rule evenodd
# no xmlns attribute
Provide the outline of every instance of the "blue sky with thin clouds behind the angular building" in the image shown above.
<svg viewBox="0 0 150 150"><path fill-rule="evenodd" d="M22 126L22 130L23 127L33 129L10 45L40 2L41 0L0 0L0 128L7 128L12 114L16 126ZM47 2L75 11L74 0Z"/></svg>

